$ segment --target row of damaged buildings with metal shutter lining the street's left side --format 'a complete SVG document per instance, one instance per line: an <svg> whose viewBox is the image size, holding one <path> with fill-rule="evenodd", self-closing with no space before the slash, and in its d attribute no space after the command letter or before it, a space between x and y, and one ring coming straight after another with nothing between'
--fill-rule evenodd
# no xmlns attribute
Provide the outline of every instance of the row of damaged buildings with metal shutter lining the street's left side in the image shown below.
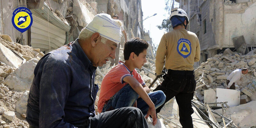
<svg viewBox="0 0 256 128"><path fill-rule="evenodd" d="M11 22L13 10L26 6L33 24L21 33ZM10 0L0 2L0 33L21 45L40 48L44 54L74 41L97 13L118 15L128 39L143 37L141 1L136 0ZM124 39L123 39L124 40Z"/></svg>

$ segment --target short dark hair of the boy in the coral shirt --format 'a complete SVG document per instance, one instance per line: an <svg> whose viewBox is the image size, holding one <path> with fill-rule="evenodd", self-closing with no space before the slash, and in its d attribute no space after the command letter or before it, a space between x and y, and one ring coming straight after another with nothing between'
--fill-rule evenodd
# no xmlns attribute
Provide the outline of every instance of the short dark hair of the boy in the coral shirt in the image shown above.
<svg viewBox="0 0 256 128"><path fill-rule="evenodd" d="M124 44L124 60L128 60L132 52L139 56L147 47L148 43L138 37L128 40Z"/></svg>

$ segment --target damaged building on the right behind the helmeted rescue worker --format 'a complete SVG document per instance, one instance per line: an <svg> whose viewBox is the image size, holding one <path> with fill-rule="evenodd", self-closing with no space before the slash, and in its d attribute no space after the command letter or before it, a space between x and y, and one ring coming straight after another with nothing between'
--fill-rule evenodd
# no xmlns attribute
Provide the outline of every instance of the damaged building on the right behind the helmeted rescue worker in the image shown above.
<svg viewBox="0 0 256 128"><path fill-rule="evenodd" d="M196 66L227 48L244 55L256 47L256 0L175 1L188 13L188 30L200 42Z"/></svg>

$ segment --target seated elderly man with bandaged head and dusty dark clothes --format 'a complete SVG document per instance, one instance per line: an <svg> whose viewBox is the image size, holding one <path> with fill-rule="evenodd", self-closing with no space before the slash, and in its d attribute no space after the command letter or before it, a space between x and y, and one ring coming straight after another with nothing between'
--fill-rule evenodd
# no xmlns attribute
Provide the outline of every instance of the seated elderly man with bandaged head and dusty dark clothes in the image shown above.
<svg viewBox="0 0 256 128"><path fill-rule="evenodd" d="M115 58L121 25L108 14L97 14L77 40L40 59L27 105L29 127L147 127L135 107L95 115L95 70Z"/></svg>

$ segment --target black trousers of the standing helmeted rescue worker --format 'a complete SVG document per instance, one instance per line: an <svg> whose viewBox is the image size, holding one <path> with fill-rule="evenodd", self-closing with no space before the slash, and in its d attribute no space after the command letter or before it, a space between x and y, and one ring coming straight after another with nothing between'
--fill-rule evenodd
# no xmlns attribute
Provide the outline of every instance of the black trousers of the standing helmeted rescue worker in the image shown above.
<svg viewBox="0 0 256 128"><path fill-rule="evenodd" d="M168 70L168 73L163 76L164 81L154 91L162 90L166 95L166 102L171 100L174 96L179 106L180 123L183 128L193 128L191 115L193 108L191 100L193 99L196 88L196 80L194 79L194 71L184 70ZM160 106L156 112L160 112Z"/></svg>

